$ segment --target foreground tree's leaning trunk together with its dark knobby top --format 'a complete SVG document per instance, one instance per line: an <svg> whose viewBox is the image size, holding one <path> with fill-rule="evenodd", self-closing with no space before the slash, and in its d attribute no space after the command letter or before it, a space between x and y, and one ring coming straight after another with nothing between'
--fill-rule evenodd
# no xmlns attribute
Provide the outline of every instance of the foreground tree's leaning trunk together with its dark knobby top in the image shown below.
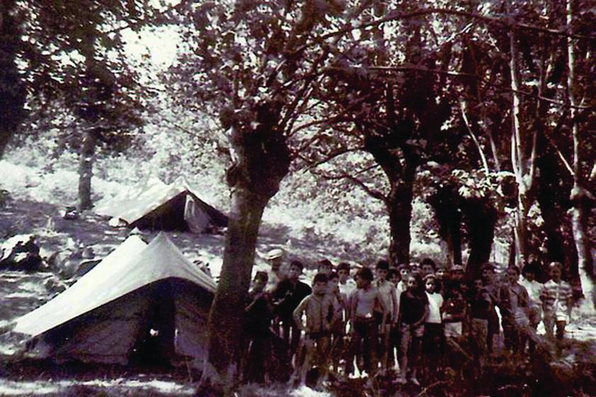
<svg viewBox="0 0 596 397"><path fill-rule="evenodd" d="M264 106L255 113L256 130L237 123L230 135L232 165L227 170L227 184L232 205L223 267L209 314L209 353L201 379L202 386L211 384L225 395L232 395L240 376L244 300L263 211L279 191L291 162L286 139L276 130L276 113L269 113L271 109L274 107Z"/></svg>

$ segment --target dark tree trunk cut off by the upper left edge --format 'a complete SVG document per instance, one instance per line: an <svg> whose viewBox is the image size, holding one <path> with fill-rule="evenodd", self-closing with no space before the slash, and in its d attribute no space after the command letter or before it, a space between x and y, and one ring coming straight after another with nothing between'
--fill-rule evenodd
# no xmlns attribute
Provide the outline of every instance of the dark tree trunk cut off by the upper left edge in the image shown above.
<svg viewBox="0 0 596 397"><path fill-rule="evenodd" d="M16 67L21 28L15 9L15 0L0 2L0 159L25 117L26 89Z"/></svg>

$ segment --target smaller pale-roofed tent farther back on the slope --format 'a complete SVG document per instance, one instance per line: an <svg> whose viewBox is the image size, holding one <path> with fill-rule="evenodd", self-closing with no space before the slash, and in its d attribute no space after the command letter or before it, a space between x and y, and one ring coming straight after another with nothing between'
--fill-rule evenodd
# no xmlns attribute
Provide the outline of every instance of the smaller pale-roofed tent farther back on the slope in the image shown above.
<svg viewBox="0 0 596 397"><path fill-rule="evenodd" d="M201 233L210 225L227 225L227 216L201 200L184 179L170 185L153 181L137 194L105 203L95 212L113 217L116 225L123 222L133 228Z"/></svg>

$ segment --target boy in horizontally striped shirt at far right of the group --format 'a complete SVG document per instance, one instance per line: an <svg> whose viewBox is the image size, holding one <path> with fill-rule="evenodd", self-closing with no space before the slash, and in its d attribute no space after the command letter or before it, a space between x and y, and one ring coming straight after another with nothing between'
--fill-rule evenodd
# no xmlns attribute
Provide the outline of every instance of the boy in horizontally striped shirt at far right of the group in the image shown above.
<svg viewBox="0 0 596 397"><path fill-rule="evenodd" d="M561 279L563 265L552 262L549 265L551 279L544 283L540 293L542 310L544 311L544 328L546 336L553 339L553 329L556 325L557 341L563 340L565 326L569 323L571 314L571 286Z"/></svg>

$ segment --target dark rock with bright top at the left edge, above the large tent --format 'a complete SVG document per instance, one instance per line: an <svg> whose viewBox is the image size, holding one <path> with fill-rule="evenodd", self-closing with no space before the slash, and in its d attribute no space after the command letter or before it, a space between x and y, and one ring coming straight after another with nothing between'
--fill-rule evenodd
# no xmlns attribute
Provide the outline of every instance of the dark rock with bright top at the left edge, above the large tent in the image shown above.
<svg viewBox="0 0 596 397"><path fill-rule="evenodd" d="M0 269L33 272L43 265L35 235L16 235L1 246Z"/></svg>

